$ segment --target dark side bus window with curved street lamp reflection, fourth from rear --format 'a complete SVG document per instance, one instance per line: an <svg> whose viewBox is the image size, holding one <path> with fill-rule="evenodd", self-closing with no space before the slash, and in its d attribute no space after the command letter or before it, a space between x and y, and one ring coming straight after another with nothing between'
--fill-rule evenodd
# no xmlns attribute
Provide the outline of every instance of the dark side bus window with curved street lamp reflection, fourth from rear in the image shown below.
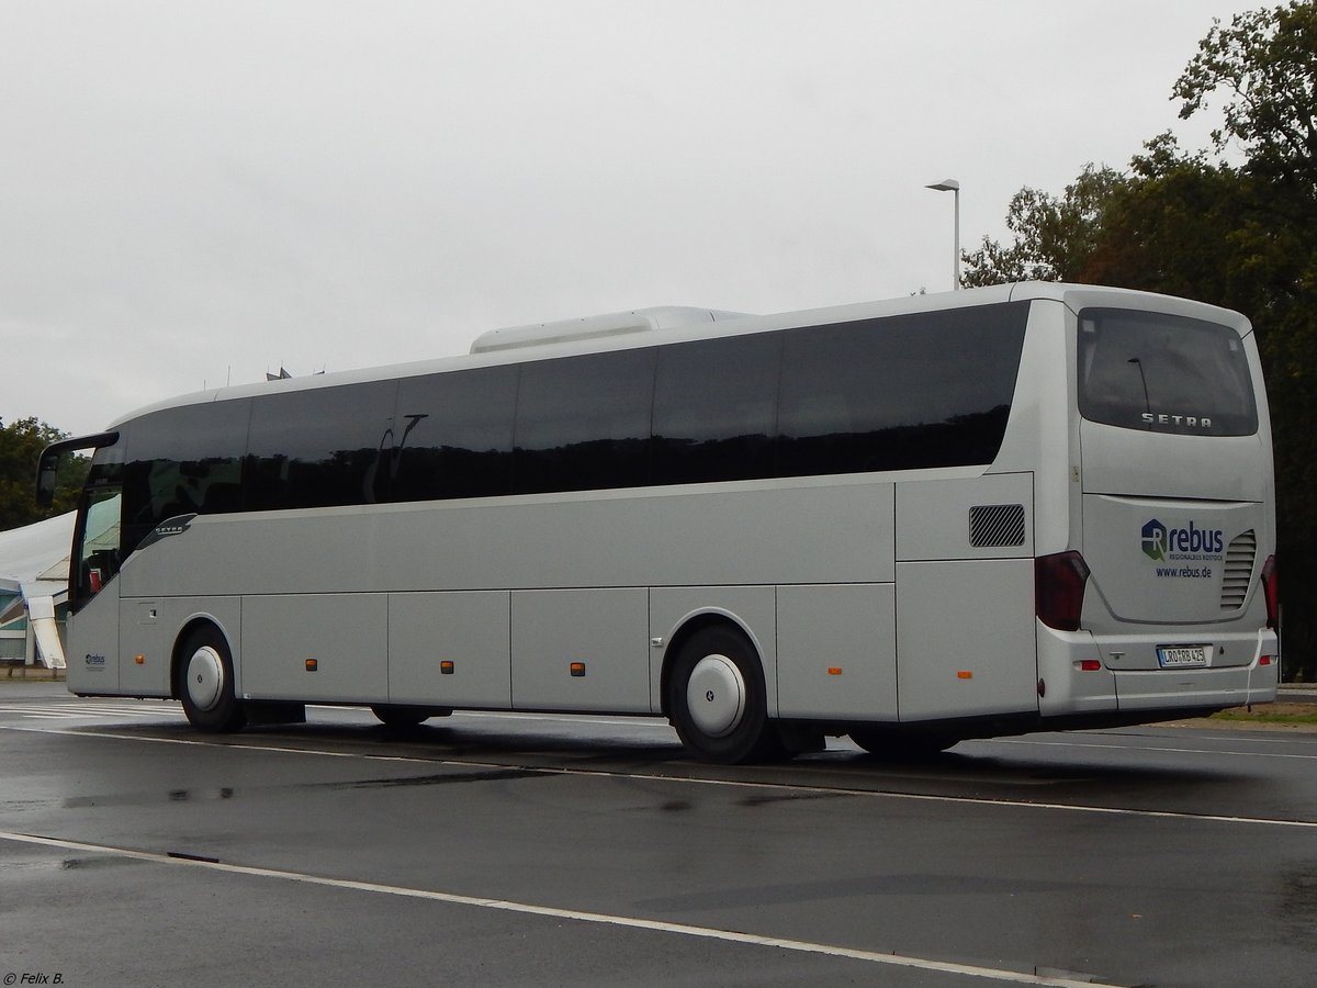
<svg viewBox="0 0 1317 988"><path fill-rule="evenodd" d="M394 501L507 494L516 368L404 378L398 391Z"/></svg>

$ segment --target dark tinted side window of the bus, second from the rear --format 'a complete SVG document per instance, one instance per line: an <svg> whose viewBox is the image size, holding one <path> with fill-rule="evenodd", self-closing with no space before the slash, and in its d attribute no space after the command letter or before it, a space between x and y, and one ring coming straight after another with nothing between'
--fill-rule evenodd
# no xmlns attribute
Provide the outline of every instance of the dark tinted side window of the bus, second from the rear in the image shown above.
<svg viewBox="0 0 1317 988"><path fill-rule="evenodd" d="M773 476L781 333L665 346L655 385L655 483Z"/></svg>

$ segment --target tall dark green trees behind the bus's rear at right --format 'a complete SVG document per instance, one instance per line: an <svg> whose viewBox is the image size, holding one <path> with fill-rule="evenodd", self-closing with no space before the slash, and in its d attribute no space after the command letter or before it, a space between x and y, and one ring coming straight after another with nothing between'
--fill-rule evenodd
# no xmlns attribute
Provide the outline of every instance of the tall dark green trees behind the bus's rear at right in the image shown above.
<svg viewBox="0 0 1317 988"><path fill-rule="evenodd" d="M1262 350L1276 457L1288 678L1317 678L1317 3L1214 21L1171 92L1220 101L1210 148L1173 133L1127 169L1085 166L1060 195L1022 188L1011 238L965 252L967 286L1036 278L1142 288L1243 312ZM1241 159L1242 158L1242 159Z"/></svg>

